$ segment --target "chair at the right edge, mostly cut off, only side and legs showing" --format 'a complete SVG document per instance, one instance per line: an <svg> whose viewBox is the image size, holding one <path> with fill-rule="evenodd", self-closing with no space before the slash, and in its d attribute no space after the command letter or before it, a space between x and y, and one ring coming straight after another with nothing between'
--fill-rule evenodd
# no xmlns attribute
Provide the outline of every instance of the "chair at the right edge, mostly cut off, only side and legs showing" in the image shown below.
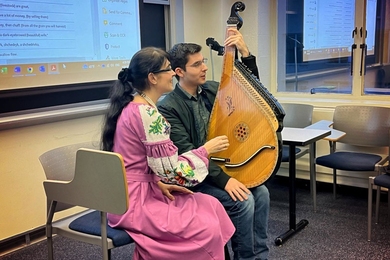
<svg viewBox="0 0 390 260"><path fill-rule="evenodd" d="M371 176L368 179L368 241L371 241L371 224L372 224L372 191L376 187L376 203L375 203L375 224L379 222L379 201L381 187L387 188L388 207L390 214L390 166L387 166L387 173L378 176Z"/></svg>

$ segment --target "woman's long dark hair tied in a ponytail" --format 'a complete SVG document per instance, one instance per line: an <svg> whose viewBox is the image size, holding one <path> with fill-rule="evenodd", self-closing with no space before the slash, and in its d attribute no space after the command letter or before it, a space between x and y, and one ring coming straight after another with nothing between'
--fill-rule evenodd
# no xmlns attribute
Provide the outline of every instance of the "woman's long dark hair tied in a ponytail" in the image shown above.
<svg viewBox="0 0 390 260"><path fill-rule="evenodd" d="M118 80L110 89L110 105L102 130L104 151L112 151L116 125L123 108L133 101L136 91L142 92L149 87L149 73L161 69L167 59L168 53L164 50L146 47L134 54L128 68L119 72Z"/></svg>

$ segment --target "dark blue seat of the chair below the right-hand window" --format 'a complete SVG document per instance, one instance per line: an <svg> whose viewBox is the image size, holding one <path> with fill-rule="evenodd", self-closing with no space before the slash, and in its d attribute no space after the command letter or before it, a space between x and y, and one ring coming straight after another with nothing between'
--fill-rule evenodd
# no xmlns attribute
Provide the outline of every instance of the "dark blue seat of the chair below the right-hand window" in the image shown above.
<svg viewBox="0 0 390 260"><path fill-rule="evenodd" d="M374 171L382 159L376 154L335 152L316 159L318 165L345 171Z"/></svg>

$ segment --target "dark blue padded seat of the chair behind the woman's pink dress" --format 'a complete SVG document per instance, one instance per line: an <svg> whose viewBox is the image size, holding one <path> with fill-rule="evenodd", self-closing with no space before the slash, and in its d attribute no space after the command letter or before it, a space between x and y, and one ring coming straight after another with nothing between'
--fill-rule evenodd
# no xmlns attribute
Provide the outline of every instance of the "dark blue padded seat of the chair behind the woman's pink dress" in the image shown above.
<svg viewBox="0 0 390 260"><path fill-rule="evenodd" d="M100 231L100 212L93 211L85 214L69 224L69 228L74 231L82 233L101 236ZM111 238L114 246L119 247L129 243L133 243L134 240L127 234L126 231L111 228L107 225L107 237Z"/></svg>

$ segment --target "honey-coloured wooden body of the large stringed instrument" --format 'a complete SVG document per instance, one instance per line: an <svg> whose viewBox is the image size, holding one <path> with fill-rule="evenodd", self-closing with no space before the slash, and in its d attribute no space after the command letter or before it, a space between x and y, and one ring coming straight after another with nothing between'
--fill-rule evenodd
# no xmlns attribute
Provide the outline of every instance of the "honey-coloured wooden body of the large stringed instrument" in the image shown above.
<svg viewBox="0 0 390 260"><path fill-rule="evenodd" d="M220 158L219 166L248 188L263 184L280 166L283 117L280 104L226 47L207 139L226 135L230 146L211 159Z"/></svg>

